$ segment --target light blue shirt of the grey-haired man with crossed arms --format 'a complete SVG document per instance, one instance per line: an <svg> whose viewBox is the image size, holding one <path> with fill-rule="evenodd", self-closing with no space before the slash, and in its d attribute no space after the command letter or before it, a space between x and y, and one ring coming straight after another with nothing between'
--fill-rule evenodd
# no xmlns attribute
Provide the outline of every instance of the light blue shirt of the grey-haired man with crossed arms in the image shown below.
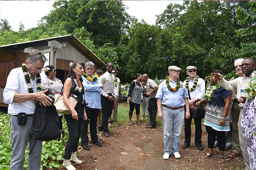
<svg viewBox="0 0 256 170"><path fill-rule="evenodd" d="M100 102L100 91L102 91L100 79L98 79L95 82L90 82L85 77L81 76L83 79L83 85L84 88L86 88L86 91L84 91L84 100L88 103L87 107L93 108L93 109L101 109L101 102ZM94 75L93 75L94 79ZM98 82L98 83L97 83Z"/></svg>

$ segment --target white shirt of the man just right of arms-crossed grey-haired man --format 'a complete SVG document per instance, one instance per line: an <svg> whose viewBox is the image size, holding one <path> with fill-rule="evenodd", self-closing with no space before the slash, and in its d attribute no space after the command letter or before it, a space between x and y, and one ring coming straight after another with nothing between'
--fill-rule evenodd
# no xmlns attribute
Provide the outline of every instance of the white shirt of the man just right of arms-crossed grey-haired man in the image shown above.
<svg viewBox="0 0 256 170"><path fill-rule="evenodd" d="M117 96L115 85L114 85L114 76L108 71L100 77L100 80L103 84L103 89L100 92L103 96L108 97L108 94L114 94Z"/></svg>

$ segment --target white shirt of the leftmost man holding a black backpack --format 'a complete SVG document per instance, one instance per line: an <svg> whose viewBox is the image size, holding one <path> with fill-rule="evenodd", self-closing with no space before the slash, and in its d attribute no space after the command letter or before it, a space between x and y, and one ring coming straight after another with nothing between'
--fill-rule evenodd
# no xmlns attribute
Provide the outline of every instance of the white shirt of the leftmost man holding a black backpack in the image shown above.
<svg viewBox="0 0 256 170"><path fill-rule="evenodd" d="M29 72L28 72L29 74ZM30 74L29 74L30 77ZM31 86L34 90L34 93L37 92L37 83L36 83L36 77L34 81L30 79ZM3 102L6 104L9 104L8 107L8 113L10 115L17 115L20 112L26 113L26 114L34 114L35 112L35 101L29 100L26 102L18 102L14 103L14 95L15 93L18 94L28 94L28 85L26 83L24 73L22 71L22 68L14 68L9 73L7 77L6 86L3 90Z"/></svg>

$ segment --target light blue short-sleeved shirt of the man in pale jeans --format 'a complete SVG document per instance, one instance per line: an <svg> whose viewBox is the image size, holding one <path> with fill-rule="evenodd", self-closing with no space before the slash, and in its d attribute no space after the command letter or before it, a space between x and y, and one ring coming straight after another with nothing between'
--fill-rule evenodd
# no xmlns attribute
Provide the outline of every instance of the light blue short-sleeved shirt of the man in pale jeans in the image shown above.
<svg viewBox="0 0 256 170"><path fill-rule="evenodd" d="M172 82L169 79L169 84L171 88L175 88L177 85L177 80L175 82ZM168 107L180 107L185 105L184 98L189 98L188 92L186 91L185 86L180 81L180 85L182 85L182 88L179 88L177 91L172 92L167 88L166 80L160 83L157 91L156 98L159 98L162 100L162 105L166 105Z"/></svg>

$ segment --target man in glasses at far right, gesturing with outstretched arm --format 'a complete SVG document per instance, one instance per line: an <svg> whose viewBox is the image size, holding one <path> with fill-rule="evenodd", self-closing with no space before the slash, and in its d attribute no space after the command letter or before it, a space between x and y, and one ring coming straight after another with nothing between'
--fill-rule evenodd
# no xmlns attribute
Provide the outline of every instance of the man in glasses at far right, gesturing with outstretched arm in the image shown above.
<svg viewBox="0 0 256 170"><path fill-rule="evenodd" d="M214 73L214 79L219 80L219 85L227 90L236 90L239 106L241 107L241 111L239 114L239 121L238 121L238 131L239 131L239 143L240 147L244 156L244 164L246 165L246 169L250 170L250 162L249 162L249 155L247 152L247 147L245 145L246 139L243 136L242 128L241 128L241 116L243 114L244 102L246 101L246 97L241 96L241 88L247 88L248 82L252 77L255 76L254 72L256 68L256 60L253 58L246 58L243 60L242 64L239 65L241 67L241 71L243 72L242 77L238 77L234 80L227 81L221 75ZM242 89L243 90L243 89Z"/></svg>

